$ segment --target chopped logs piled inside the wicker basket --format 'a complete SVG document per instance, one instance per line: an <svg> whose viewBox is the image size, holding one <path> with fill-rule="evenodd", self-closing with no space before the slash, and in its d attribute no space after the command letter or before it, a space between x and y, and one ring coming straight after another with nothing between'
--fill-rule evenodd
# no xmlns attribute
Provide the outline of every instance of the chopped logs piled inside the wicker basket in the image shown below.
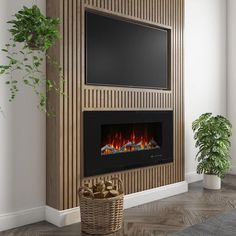
<svg viewBox="0 0 236 236"><path fill-rule="evenodd" d="M83 192L85 197L103 199L103 198L112 198L117 197L123 193L123 190L112 181L99 181L93 186L89 184L84 185L86 188Z"/></svg>

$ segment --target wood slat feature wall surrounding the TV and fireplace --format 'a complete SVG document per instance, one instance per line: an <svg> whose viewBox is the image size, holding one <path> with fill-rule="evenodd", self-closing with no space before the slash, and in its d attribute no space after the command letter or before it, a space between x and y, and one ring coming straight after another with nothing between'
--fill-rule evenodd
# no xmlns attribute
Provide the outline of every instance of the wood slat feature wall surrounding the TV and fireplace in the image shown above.
<svg viewBox="0 0 236 236"><path fill-rule="evenodd" d="M85 9L171 31L171 90L92 86L85 84ZM62 40L50 54L61 63L66 96L49 96L56 111L47 119L47 205L68 209L79 205L81 184L119 176L125 193L184 180L183 23L184 0L47 0L47 14L61 19ZM48 78L57 80L47 65ZM83 111L173 110L174 162L83 178Z"/></svg>

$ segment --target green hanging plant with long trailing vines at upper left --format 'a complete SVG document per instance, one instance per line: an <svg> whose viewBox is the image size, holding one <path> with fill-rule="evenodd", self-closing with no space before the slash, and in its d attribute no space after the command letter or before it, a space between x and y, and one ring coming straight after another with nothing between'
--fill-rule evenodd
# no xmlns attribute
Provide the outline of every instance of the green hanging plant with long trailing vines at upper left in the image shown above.
<svg viewBox="0 0 236 236"><path fill-rule="evenodd" d="M11 25L11 38L2 52L6 54L8 63L0 65L0 75L8 75L5 82L11 93L9 101L12 101L19 91L19 83L23 83L30 86L39 97L39 108L49 114L50 111L46 108L46 94L50 91L63 94L61 68L47 54L47 50L60 39L60 21L58 18L44 16L40 9L33 5L31 8L24 6L14 15L14 19L7 23ZM59 84L47 79L42 71L46 58L56 67L57 76L60 77ZM13 79L16 78L15 73L21 76Z"/></svg>

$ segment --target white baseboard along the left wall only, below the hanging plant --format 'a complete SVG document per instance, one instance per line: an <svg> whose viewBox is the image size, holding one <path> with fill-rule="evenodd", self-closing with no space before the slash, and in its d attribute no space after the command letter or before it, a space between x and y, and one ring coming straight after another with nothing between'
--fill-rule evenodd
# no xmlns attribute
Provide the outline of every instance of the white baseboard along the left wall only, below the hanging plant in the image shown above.
<svg viewBox="0 0 236 236"><path fill-rule="evenodd" d="M45 220L45 206L0 214L0 231Z"/></svg>

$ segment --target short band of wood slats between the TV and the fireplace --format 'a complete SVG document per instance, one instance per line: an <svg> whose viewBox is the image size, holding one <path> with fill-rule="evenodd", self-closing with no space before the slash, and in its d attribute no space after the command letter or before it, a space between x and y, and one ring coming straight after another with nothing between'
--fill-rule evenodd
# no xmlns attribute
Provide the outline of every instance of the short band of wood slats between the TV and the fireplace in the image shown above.
<svg viewBox="0 0 236 236"><path fill-rule="evenodd" d="M173 110L171 91L100 86L84 86L82 91L83 111Z"/></svg>

